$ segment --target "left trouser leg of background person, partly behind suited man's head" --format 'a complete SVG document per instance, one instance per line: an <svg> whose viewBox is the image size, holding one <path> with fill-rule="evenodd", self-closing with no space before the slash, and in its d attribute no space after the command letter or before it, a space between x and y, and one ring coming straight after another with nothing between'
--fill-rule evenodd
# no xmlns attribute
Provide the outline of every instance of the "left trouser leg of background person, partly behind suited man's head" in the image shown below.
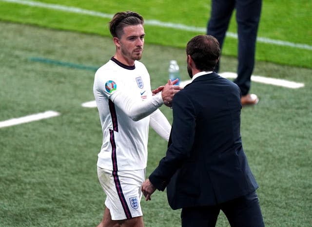
<svg viewBox="0 0 312 227"><path fill-rule="evenodd" d="M234 0L212 0L211 15L207 24L207 35L215 37L222 49L223 40L229 27L229 22L234 10ZM219 71L219 63L215 67L215 72Z"/></svg>

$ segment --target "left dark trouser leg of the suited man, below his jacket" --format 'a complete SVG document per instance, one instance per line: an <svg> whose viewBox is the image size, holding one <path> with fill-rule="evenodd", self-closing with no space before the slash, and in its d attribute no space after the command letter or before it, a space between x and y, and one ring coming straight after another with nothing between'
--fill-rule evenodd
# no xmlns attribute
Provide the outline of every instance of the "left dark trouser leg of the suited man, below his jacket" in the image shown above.
<svg viewBox="0 0 312 227"><path fill-rule="evenodd" d="M182 227L215 227L220 208L215 206L182 208Z"/></svg>

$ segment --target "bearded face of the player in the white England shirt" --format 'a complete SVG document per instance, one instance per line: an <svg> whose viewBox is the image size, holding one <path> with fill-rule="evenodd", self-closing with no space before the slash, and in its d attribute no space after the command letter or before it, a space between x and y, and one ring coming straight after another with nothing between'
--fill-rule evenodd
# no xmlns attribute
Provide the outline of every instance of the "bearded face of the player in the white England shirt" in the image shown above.
<svg viewBox="0 0 312 227"><path fill-rule="evenodd" d="M143 25L130 25L125 27L123 31L124 33L118 42L122 57L127 62L141 59L145 37Z"/></svg>

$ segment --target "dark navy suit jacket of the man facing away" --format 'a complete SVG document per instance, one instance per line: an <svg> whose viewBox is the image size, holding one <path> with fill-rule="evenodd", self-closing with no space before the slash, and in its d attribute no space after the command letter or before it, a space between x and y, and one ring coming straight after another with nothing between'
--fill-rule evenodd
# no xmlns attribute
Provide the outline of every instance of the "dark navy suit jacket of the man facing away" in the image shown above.
<svg viewBox="0 0 312 227"><path fill-rule="evenodd" d="M167 187L171 208L211 206L258 188L240 135L240 89L216 73L202 75L173 98L166 156L149 176Z"/></svg>

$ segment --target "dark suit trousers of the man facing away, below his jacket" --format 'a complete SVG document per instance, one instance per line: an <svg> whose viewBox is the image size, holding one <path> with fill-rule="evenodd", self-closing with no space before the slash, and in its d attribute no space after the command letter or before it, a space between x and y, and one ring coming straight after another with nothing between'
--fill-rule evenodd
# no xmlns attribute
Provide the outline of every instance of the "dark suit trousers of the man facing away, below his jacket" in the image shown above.
<svg viewBox="0 0 312 227"><path fill-rule="evenodd" d="M182 227L215 227L220 210L231 227L264 227L255 191L215 206L182 208Z"/></svg>

